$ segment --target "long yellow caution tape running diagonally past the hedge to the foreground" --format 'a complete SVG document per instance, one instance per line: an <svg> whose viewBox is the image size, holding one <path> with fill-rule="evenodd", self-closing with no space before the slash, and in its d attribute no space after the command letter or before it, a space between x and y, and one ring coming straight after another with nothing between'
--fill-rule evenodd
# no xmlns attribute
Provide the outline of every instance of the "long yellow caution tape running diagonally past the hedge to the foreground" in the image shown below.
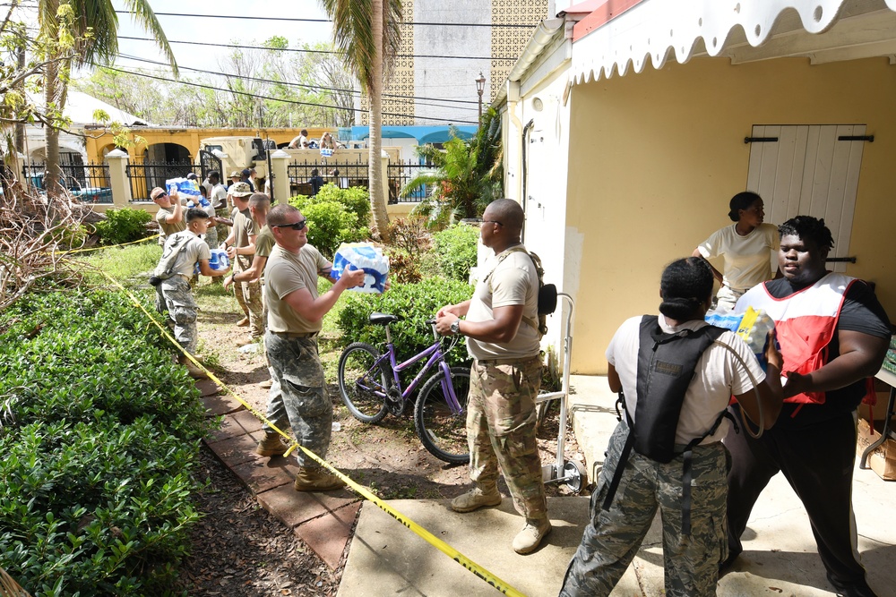
<svg viewBox="0 0 896 597"><path fill-rule="evenodd" d="M266 425L268 425L272 430L277 431L278 433L280 433L281 436L283 436L284 438L289 440L290 446L289 446L289 449L286 451L286 453L283 455L284 457L289 456L296 448L301 449L303 452L305 452L306 456L309 456L312 460L314 460L314 462L318 463L319 465L322 465L327 470L329 470L331 473L333 473L338 478L340 478L342 481L346 482L346 484L349 486L349 488L351 488L351 490L354 490L361 497L372 502L376 507L379 507L381 510L383 510L383 512L385 512L389 516L392 516L392 518L394 518L395 520L400 522L402 525L405 525L406 527L408 527L411 531L416 533L424 541L426 541L427 543L429 543L430 545L435 547L436 550L441 551L446 556L453 559L455 562L460 564L462 567L466 568L467 570L469 570L474 575L478 576L479 578L481 578L482 580L484 580L485 582L487 582L488 584L493 586L495 589L497 589L501 593L504 593L505 595L510 595L511 597L526 597L524 593L521 593L517 589L514 589L513 586L505 583L503 580L498 578L498 576L495 576L494 574L489 572L485 567L479 566L476 562L474 562L473 560L464 556L460 551L455 550L454 548L452 548L451 545L442 541L441 539L436 537L433 533L429 533L429 531L426 531L425 528L423 528L422 526L415 523L409 517L404 516L403 514L401 514L401 512L399 512L395 508L386 504L382 499L379 499L373 493L371 493L369 490L367 490L366 487L358 485L358 483L352 481L348 476L341 473L333 465L331 465L327 461L323 460L323 458L321 458L320 456L317 456L316 454L314 454L314 452L312 452L305 446L300 446L295 439L292 439L291 437L289 437L289 435L287 433L281 431L280 429L278 429L278 427L276 425L274 425L272 422L268 421L267 417L264 414L261 414L257 410L255 410L252 405L247 403L243 398L239 397L236 392L234 392L232 389L228 388L228 386L225 385L225 383L223 381L218 379L214 373L212 373L211 371L206 369L205 366L202 365L201 362L197 361L195 359L195 357L193 356L193 354L188 353L184 349L183 346L179 345L177 343L177 340L175 340L175 338L172 337L168 333L168 329L164 328L159 323L159 321L157 321L154 317L152 317L150 312L146 311L146 308L143 307L142 303L140 303L140 301L137 300L137 298L134 296L134 294L131 294L131 292L129 290L127 290L125 288L125 286L122 286L115 279L113 279L112 277L109 277L107 273L105 273L105 272L102 272L102 273L103 273L103 276L105 276L109 281L111 281L114 285L118 286L118 288L120 288L125 294L127 294L127 296L131 299L131 301L135 305L137 305L137 307L140 308L140 310L143 311L146 314L146 316L149 317L150 320L154 324L156 324L156 327L159 328L159 331L161 332L162 336L168 338L168 340L171 342L171 344L173 344L177 347L177 350L179 350L181 353L185 354L186 358L188 358L191 362L193 362L197 367L202 369L202 371L205 371L205 373L209 376L210 380L214 381L221 388L224 388L224 390L226 390L230 396L236 398L237 401L241 405L246 406L246 410L248 410L250 413L254 414L256 418L258 418L260 421L262 421Z"/></svg>

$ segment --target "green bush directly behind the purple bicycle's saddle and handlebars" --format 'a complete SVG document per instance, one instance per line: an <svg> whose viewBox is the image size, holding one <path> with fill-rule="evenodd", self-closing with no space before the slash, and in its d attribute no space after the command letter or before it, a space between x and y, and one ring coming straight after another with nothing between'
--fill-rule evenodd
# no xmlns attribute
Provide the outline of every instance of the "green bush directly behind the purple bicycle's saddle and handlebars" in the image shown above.
<svg viewBox="0 0 896 597"><path fill-rule="evenodd" d="M432 328L426 325L426 320L434 318L445 305L462 303L472 295L472 286L441 277L429 277L419 284L393 284L383 294L347 292L342 295L345 303L338 322L342 345L352 342L382 345L385 342L383 328L371 325L370 313L380 311L401 315L403 319L392 324L390 329L398 357L405 360L433 344ZM448 362L454 365L469 361L466 346L458 342L452 348Z"/></svg>

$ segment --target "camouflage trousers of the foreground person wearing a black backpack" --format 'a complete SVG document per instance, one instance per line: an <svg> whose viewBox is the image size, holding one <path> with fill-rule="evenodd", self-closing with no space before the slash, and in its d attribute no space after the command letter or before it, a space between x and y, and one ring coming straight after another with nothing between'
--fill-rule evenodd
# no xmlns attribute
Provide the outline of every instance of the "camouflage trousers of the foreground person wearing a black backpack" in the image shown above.
<svg viewBox="0 0 896 597"><path fill-rule="evenodd" d="M725 448L719 442L694 448L692 499L700 507L691 513L691 534L683 536L680 457L664 465L632 451L613 505L608 511L601 509L628 432L623 421L610 438L598 488L591 494L590 524L566 571L560 595L610 594L637 554L658 507L667 597L715 595L719 562L728 557Z"/></svg>

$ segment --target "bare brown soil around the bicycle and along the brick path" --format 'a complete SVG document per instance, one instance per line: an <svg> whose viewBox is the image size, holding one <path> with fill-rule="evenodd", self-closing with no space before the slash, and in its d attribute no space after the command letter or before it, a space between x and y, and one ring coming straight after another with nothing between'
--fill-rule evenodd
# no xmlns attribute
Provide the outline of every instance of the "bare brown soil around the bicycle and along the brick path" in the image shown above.
<svg viewBox="0 0 896 597"><path fill-rule="evenodd" d="M207 282L208 278L202 278L194 289L201 308L199 352L220 380L264 413L267 389L261 384L269 376L261 346L256 345L254 352L237 349L247 331L236 326L242 313L232 294ZM329 461L337 468L354 470L354 480L383 499L450 499L468 490L465 465L447 465L420 444L413 427L413 405L400 417L388 415L375 425L349 414L335 384L340 355L337 337L338 333L327 332L325 327L320 340L321 358L331 382L333 420L340 423L340 431L332 435ZM550 405L538 431L544 464L556 460L558 407L556 401ZM569 431L564 457L582 462ZM345 555L340 567L330 570L289 528L259 507L251 492L208 448L203 448L202 467L202 475L210 481L199 496L198 507L205 518L194 530L193 555L182 567L180 590L200 596L335 595ZM500 489L506 494L503 483ZM570 493L566 487L548 485L548 495Z"/></svg>

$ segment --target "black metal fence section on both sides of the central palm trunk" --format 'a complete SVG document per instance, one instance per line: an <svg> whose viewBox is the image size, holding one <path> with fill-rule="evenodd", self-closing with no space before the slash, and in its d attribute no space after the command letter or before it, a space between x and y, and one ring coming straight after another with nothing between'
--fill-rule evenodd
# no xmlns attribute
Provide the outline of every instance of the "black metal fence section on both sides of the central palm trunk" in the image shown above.
<svg viewBox="0 0 896 597"><path fill-rule="evenodd" d="M420 168L429 168L431 166L421 166L413 164L410 161L407 164L389 164L389 202L390 203L413 203L417 202L428 194L429 189L421 188L414 192L413 196L408 198L399 197L401 187L411 178L417 175ZM316 175L323 178L323 183L333 183L340 189L348 189L353 186L364 187L370 186L370 180L367 174L367 163L358 160L357 162L337 162L334 160L304 160L301 162L292 162L287 166L287 175L289 175L289 192L291 195L311 195L312 185L308 181L312 176Z"/></svg>

